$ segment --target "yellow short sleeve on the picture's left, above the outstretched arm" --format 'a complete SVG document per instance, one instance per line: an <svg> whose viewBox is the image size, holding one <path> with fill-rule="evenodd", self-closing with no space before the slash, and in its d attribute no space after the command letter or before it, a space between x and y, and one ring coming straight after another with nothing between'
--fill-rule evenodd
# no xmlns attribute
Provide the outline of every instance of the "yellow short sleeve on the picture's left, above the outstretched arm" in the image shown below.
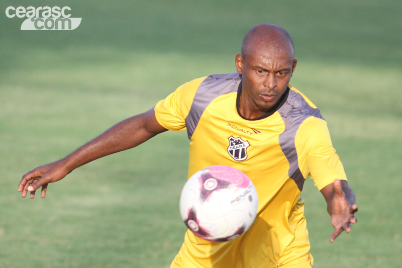
<svg viewBox="0 0 402 268"><path fill-rule="evenodd" d="M199 84L205 77L182 84L164 100L159 101L154 110L158 123L169 130L184 130L192 100Z"/></svg>

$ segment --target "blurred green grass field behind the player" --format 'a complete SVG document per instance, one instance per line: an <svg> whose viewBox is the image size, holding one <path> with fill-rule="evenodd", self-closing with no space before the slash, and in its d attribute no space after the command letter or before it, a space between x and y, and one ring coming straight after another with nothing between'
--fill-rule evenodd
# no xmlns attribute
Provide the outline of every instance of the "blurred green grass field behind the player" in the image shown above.
<svg viewBox="0 0 402 268"><path fill-rule="evenodd" d="M73 31L20 31L8 6L69 6ZM21 176L190 79L235 71L252 26L292 35L291 84L329 124L355 190L358 223L334 244L325 201L302 196L316 268L402 263L402 2L10 1L0 3L0 267L168 267L185 226L178 210L188 139L166 132L96 160L22 199Z"/></svg>

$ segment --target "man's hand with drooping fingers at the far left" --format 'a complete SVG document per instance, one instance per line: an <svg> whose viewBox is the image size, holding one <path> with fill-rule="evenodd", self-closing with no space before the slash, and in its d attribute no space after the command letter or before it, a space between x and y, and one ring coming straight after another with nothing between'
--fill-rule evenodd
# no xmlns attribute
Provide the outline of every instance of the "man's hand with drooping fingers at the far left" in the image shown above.
<svg viewBox="0 0 402 268"><path fill-rule="evenodd" d="M22 192L23 198L31 192L30 198L33 199L36 190L42 187L41 197L45 198L48 184L60 181L68 173L61 164L61 160L38 166L22 176L18 192Z"/></svg>

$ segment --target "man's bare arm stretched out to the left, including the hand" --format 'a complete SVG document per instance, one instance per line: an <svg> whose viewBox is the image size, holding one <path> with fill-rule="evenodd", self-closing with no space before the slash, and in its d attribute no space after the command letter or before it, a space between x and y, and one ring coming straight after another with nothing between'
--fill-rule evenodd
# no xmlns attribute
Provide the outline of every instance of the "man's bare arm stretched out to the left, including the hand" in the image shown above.
<svg viewBox="0 0 402 268"><path fill-rule="evenodd" d="M35 191L42 187L41 197L44 198L49 183L60 181L75 168L97 158L133 148L166 130L156 120L153 108L127 118L64 158L26 173L18 186L18 192L22 192L22 197L31 192L32 199Z"/></svg>

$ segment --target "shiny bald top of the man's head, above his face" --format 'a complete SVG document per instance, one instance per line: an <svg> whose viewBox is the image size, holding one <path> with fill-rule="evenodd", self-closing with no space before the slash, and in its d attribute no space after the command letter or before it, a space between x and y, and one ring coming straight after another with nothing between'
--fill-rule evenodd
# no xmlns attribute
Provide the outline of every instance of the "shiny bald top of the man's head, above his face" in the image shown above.
<svg viewBox="0 0 402 268"><path fill-rule="evenodd" d="M252 55L259 49L285 52L294 58L292 38L285 29L274 24L259 24L247 32L243 39L242 56Z"/></svg>

